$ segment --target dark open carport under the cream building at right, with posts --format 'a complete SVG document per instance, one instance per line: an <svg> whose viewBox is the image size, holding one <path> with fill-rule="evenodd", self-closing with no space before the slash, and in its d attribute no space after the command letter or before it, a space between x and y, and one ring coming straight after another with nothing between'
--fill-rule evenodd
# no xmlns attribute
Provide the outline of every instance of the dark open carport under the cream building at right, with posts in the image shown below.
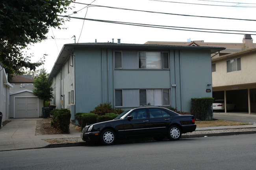
<svg viewBox="0 0 256 170"><path fill-rule="evenodd" d="M255 84L226 86L213 88L213 98L215 100L232 101L236 104L238 112L256 112L256 88Z"/></svg>

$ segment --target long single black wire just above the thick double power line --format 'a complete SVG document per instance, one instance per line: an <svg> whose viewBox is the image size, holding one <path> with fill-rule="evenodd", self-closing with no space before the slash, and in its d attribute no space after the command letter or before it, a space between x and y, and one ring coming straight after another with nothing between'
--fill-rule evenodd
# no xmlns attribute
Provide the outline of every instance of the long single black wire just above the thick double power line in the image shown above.
<svg viewBox="0 0 256 170"><path fill-rule="evenodd" d="M73 2L73 3L83 4L83 5L87 5L87 6L90 5L90 4L80 3L80 2ZM122 10L128 10L128 11L140 11L140 12L147 12L147 13L167 14L167 15L192 16L192 17L201 17L201 18L217 18L217 19L228 19L228 20L256 21L256 20L252 20L252 19L223 18L223 17L215 17L215 16L198 16L198 15L184 15L184 14L174 14L174 13L163 13L163 12L144 11L144 10L137 10L137 9L127 9L127 8L119 8L119 7L102 6L102 5L90 5L90 6L106 7L106 8L112 8L112 9L122 9Z"/></svg>

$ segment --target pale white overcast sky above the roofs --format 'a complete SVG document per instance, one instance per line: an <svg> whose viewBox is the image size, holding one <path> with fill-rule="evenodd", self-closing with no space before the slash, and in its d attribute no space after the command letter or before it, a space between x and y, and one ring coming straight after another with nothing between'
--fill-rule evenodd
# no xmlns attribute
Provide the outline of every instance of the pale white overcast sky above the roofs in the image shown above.
<svg viewBox="0 0 256 170"><path fill-rule="evenodd" d="M92 5L193 16L148 13L124 9L113 9L107 7L86 7L87 5L74 3L72 3L71 6L74 6L75 8L68 11L68 13L62 15L69 15L79 18L132 22L160 26L256 31L256 21L195 17L211 16L221 18L255 20L255 0L76 0L76 2L81 2L84 4L91 4L93 2ZM185 2L194 4L182 4L174 2ZM77 12L73 14L74 11ZM33 44L33 46L30 47L30 50L26 51L28 54L34 54L35 57L32 58L33 62L39 60L39 58L41 58L43 54L47 54L48 56L46 57L44 67L46 68L48 73L50 73L50 71L52 70L54 62L56 61L63 45L74 43L73 35L76 36L76 42L78 43L95 42L95 39L97 39L97 42L111 42L112 38L114 38L114 42L117 42L117 39L120 38L121 43L144 44L147 41L186 42L189 38L191 39L191 41L204 40L204 42L242 43L243 34L256 34L256 32L236 32L241 33L241 35L204 33L174 29L130 26L74 18L71 18L70 22L66 22L64 27L66 27L67 29L50 29L49 33L47 34L47 40L41 43ZM226 32L234 33L234 31ZM54 37L55 39L53 39L52 37ZM255 39L256 35L252 35L252 38Z"/></svg>

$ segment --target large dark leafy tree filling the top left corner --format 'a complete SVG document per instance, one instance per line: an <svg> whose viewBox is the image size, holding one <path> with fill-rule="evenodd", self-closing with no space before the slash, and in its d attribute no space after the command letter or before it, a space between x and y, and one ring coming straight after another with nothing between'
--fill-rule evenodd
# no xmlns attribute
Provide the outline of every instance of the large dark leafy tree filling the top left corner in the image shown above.
<svg viewBox="0 0 256 170"><path fill-rule="evenodd" d="M31 62L33 54L22 53L29 44L46 39L50 27L59 28L67 19L66 13L73 0L1 0L0 2L0 62L17 74L22 68L34 70L42 65Z"/></svg>

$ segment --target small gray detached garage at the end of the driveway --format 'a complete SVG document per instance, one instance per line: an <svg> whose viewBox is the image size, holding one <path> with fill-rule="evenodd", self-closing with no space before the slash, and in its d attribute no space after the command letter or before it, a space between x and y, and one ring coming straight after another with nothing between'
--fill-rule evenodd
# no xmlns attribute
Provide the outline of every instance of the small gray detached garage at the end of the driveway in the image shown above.
<svg viewBox="0 0 256 170"><path fill-rule="evenodd" d="M31 90L21 90L10 93L10 117L32 118L41 117L40 108L43 107L43 100L33 95Z"/></svg>

